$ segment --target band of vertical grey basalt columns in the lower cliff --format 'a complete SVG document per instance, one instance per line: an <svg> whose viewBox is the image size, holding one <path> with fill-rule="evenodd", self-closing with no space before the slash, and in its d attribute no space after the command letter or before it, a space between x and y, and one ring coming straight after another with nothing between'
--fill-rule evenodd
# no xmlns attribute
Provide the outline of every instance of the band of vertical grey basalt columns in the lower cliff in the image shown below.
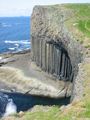
<svg viewBox="0 0 90 120"><path fill-rule="evenodd" d="M61 43L37 39L33 41L33 58L42 70L60 80L72 80L72 65L68 53Z"/></svg>

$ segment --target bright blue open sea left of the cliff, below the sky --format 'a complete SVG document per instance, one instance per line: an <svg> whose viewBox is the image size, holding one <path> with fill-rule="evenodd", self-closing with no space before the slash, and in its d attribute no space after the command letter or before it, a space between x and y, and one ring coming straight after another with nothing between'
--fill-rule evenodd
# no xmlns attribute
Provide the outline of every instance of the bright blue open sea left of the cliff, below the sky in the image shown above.
<svg viewBox="0 0 90 120"><path fill-rule="evenodd" d="M30 17L0 17L0 53L30 49Z"/></svg>

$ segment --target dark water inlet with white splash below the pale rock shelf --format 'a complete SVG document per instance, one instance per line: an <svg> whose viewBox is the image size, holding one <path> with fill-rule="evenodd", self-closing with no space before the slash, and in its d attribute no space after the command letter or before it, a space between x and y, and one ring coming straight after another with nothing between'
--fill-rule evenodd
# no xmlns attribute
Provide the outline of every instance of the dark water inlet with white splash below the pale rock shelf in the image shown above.
<svg viewBox="0 0 90 120"><path fill-rule="evenodd" d="M67 105L70 97L52 99L48 97L35 96L22 93L10 93L0 91L0 117L8 116L20 111L26 111L35 105Z"/></svg>

